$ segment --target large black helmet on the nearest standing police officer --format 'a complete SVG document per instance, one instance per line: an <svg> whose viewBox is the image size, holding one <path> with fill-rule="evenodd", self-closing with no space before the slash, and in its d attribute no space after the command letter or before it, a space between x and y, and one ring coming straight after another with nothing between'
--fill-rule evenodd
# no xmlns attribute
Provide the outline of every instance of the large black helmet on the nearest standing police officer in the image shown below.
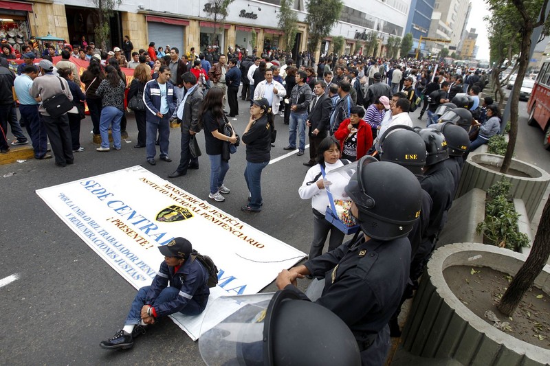
<svg viewBox="0 0 550 366"><path fill-rule="evenodd" d="M345 190L359 209L362 231L371 238L404 237L420 216L420 183L401 165L364 156Z"/></svg>

